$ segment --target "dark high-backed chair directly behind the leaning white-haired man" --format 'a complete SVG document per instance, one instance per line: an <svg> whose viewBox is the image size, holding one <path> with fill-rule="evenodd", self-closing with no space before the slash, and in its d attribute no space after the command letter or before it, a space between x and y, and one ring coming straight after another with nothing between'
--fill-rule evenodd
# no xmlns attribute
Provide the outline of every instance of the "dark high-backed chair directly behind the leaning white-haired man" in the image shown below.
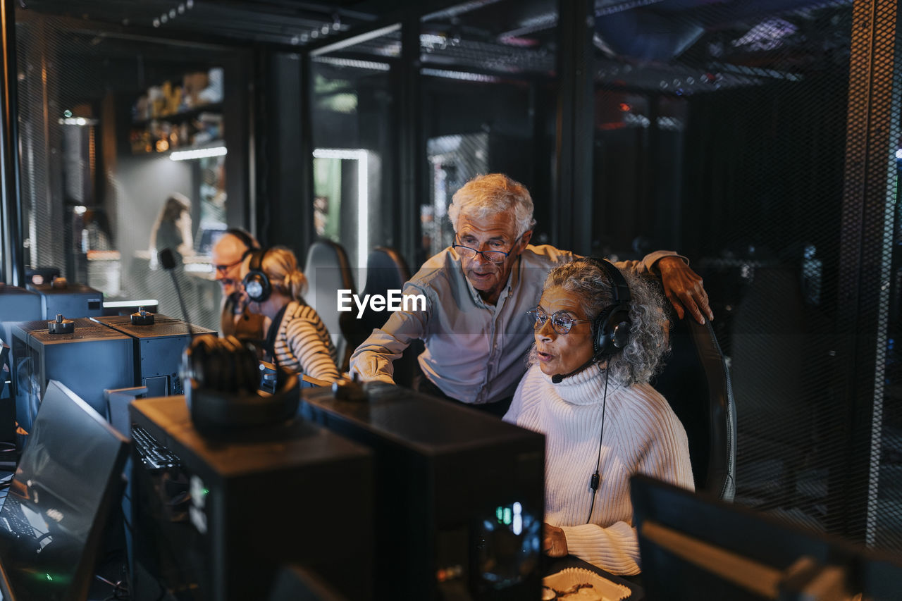
<svg viewBox="0 0 902 601"><path fill-rule="evenodd" d="M404 257L394 248L388 246L376 246L366 258L366 284L363 295L382 294L390 290L401 290L404 282L410 280L410 268ZM387 311L373 311L369 307L364 310L360 319L356 313L342 313L342 331L347 338L351 352L359 347L364 340L373 333L373 329L382 328L385 320L389 318ZM423 343L415 340L404 354L394 362L394 381L400 386L408 386L413 383L414 376L419 372L417 356L423 351Z"/></svg>

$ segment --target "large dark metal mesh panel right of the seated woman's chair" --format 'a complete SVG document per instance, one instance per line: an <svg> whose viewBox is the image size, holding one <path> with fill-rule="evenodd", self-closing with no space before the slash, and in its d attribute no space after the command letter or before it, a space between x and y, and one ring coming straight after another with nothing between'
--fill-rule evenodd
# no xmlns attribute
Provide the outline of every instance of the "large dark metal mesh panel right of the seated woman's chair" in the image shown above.
<svg viewBox="0 0 902 601"><path fill-rule="evenodd" d="M895 12L596 5L594 234L704 275L736 502L902 549Z"/></svg>

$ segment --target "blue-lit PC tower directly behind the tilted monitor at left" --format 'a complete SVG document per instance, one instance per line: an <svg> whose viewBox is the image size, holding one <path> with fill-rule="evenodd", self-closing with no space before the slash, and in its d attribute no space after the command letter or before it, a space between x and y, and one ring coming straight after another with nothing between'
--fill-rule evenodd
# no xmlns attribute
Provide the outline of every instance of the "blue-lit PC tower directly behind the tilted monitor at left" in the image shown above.
<svg viewBox="0 0 902 601"><path fill-rule="evenodd" d="M59 380L104 416L104 389L133 385L132 338L90 319L72 321L71 334L52 334L43 320L13 327L15 419L26 432L48 380Z"/></svg>

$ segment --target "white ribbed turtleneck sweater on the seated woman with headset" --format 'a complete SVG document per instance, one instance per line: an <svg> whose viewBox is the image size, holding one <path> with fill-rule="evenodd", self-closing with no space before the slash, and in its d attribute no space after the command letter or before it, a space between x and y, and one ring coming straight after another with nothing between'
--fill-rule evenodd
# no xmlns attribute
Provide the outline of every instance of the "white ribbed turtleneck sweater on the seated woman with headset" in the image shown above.
<svg viewBox="0 0 902 601"><path fill-rule="evenodd" d="M564 530L567 550L612 574L640 572L630 476L645 474L694 489L686 430L650 384L608 383L601 485L592 506L604 373L598 365L552 384L529 368L504 421L545 434L545 521Z"/></svg>

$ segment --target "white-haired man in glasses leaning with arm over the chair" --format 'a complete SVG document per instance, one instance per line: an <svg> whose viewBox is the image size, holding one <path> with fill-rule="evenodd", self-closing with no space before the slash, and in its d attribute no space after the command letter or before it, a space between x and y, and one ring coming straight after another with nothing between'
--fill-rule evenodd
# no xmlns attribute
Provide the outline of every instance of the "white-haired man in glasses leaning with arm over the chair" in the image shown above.
<svg viewBox="0 0 902 601"><path fill-rule="evenodd" d="M354 351L351 374L394 384L392 362L420 338L426 350L415 388L502 416L532 345L527 311L536 306L548 273L576 256L529 244L532 210L529 191L501 173L478 176L457 190L448 208L455 243L404 285L405 295L425 297L425 310L416 303L391 313ZM688 310L699 322L713 319L702 279L683 257L657 251L617 266L658 273L681 318Z"/></svg>

